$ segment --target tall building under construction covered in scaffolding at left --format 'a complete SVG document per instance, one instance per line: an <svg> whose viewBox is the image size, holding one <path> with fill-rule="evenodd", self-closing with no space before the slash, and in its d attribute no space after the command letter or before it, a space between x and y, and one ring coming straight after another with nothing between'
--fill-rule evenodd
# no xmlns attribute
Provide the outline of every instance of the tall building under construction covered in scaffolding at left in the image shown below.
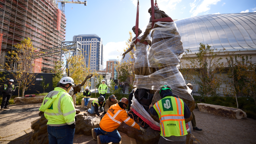
<svg viewBox="0 0 256 144"><path fill-rule="evenodd" d="M61 45L66 18L55 0L0 0L0 29L0 64L4 69L8 51L24 38L30 38L38 50ZM60 55L35 59L35 72L49 73L59 60Z"/></svg>

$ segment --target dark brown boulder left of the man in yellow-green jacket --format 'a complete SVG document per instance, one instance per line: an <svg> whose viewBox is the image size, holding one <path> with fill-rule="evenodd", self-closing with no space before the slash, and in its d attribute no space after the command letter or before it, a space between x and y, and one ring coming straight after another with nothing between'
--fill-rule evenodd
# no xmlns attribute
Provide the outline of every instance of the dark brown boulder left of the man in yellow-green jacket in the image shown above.
<svg viewBox="0 0 256 144"><path fill-rule="evenodd" d="M33 131L32 137L29 140L30 144L48 144L48 132L47 132L47 119L44 112L40 111L39 116L41 118L31 122L31 129Z"/></svg>

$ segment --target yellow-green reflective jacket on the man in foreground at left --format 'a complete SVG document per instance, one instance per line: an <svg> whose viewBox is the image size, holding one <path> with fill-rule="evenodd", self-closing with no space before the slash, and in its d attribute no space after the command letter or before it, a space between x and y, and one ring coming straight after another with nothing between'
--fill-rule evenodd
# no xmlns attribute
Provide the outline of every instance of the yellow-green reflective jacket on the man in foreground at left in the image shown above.
<svg viewBox="0 0 256 144"><path fill-rule="evenodd" d="M75 123L75 107L72 97L60 87L55 87L45 96L39 110L45 112L45 118L48 119L47 125Z"/></svg>

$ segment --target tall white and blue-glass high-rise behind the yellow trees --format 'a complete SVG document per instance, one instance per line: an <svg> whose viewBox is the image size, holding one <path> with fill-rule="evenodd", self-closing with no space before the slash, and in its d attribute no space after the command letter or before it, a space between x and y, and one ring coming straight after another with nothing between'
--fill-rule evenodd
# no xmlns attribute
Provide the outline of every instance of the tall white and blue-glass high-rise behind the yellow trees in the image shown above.
<svg viewBox="0 0 256 144"><path fill-rule="evenodd" d="M81 43L81 50L85 57L86 67L90 65L90 70L103 70L104 46L102 39L98 35L75 35L73 41Z"/></svg>

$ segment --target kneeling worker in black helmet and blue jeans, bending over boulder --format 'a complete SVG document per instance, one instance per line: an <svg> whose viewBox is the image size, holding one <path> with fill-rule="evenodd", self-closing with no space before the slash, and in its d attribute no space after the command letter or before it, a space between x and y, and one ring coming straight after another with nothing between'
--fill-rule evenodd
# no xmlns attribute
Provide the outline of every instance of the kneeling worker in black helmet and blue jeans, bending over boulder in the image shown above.
<svg viewBox="0 0 256 144"><path fill-rule="evenodd" d="M98 97L98 99L93 100L93 102L91 102L91 109L88 109L88 112L90 114L97 114L99 117L101 117L101 115L99 114L98 110L101 110L101 112L103 112L103 105L105 104L105 98L101 95L100 97Z"/></svg>

